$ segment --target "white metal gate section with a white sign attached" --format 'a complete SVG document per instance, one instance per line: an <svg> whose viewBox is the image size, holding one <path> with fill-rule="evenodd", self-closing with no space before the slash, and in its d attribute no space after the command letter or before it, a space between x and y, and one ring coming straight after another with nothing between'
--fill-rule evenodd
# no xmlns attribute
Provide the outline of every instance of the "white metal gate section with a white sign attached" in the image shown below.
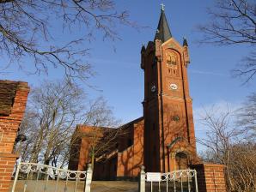
<svg viewBox="0 0 256 192"><path fill-rule="evenodd" d="M197 171L179 170L167 173L140 172L140 192L198 192Z"/></svg>

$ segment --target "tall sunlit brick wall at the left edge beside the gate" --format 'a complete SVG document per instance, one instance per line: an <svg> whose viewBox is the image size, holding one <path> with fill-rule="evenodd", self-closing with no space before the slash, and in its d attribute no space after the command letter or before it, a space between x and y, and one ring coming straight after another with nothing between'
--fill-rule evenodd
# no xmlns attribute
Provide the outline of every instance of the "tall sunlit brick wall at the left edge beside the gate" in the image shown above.
<svg viewBox="0 0 256 192"><path fill-rule="evenodd" d="M1 81L2 101L10 99L4 97L4 92L8 91L9 85L15 84L15 97L12 99L10 113L0 115L0 191L9 191L11 175L14 170L15 160L18 157L13 153L15 137L19 129L26 104L29 87L27 82L21 81Z"/></svg>

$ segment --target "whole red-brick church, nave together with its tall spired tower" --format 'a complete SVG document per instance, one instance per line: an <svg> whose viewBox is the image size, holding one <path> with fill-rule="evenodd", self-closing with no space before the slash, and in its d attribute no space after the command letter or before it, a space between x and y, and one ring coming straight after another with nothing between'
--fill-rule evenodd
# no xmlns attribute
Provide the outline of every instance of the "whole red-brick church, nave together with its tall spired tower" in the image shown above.
<svg viewBox="0 0 256 192"><path fill-rule="evenodd" d="M117 136L115 145L95 157L94 179L137 177L141 165L147 172L169 172L187 169L199 161L187 77L189 63L187 40L180 45L174 39L162 7L155 38L141 49L143 117L113 130L128 132ZM77 125L75 133L93 129ZM96 129L106 138L103 129L107 128ZM91 162L90 136L81 134L72 143L69 169L85 170Z"/></svg>

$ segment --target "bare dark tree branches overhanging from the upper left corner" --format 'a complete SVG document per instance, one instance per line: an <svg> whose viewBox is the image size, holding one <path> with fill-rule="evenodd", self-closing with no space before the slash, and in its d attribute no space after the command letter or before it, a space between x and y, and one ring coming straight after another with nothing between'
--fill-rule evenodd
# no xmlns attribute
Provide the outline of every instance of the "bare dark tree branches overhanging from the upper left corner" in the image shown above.
<svg viewBox="0 0 256 192"><path fill-rule="evenodd" d="M24 63L26 57L34 63L34 73L60 67L67 77L86 80L92 73L84 61L88 42L99 31L103 40L119 39L118 23L136 27L128 16L116 10L113 0L0 0L0 51L21 69L32 72ZM64 36L77 36L78 31L82 37Z"/></svg>

